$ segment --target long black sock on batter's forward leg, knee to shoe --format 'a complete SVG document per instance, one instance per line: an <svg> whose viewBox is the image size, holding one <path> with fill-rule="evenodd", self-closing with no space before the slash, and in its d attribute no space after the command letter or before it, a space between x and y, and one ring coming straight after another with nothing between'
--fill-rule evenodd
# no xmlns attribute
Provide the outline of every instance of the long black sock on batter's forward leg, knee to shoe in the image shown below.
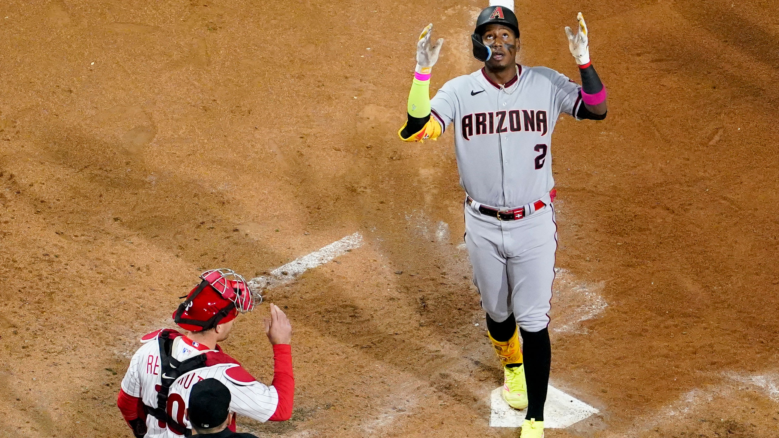
<svg viewBox="0 0 779 438"><path fill-rule="evenodd" d="M488 324L489 325L489 324ZM552 366L552 343L549 342L549 330L524 331L522 352L525 361L525 380L527 381L526 419L544 421L544 403L546 387L549 384L549 369Z"/></svg>

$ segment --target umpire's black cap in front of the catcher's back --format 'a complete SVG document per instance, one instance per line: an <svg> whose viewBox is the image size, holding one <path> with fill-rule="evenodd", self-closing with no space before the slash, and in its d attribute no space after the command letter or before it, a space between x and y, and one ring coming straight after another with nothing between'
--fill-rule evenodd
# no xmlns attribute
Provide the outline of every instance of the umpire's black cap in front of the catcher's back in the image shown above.
<svg viewBox="0 0 779 438"><path fill-rule="evenodd" d="M189 393L189 422L198 429L217 427L230 412L230 390L217 379L200 380Z"/></svg>

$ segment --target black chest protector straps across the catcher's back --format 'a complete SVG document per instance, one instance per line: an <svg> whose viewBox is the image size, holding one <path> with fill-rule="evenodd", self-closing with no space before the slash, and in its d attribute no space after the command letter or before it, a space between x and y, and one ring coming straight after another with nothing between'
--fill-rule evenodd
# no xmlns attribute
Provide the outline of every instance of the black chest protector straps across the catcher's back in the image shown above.
<svg viewBox="0 0 779 438"><path fill-rule="evenodd" d="M157 391L157 407L152 408L147 406L149 413L156 419L165 422L167 428L171 429L174 433L183 436L191 436L192 429L187 429L184 425L179 424L170 414L167 413L167 395L171 391L171 385L178 377L182 377L184 374L190 371L197 370L206 366L206 355L199 354L197 356L190 357L183 361L178 361L171 356L173 352L173 341L175 338L181 336L178 331L165 329L160 331L160 335L157 337L160 342L160 377L162 384L160 385L160 391Z"/></svg>

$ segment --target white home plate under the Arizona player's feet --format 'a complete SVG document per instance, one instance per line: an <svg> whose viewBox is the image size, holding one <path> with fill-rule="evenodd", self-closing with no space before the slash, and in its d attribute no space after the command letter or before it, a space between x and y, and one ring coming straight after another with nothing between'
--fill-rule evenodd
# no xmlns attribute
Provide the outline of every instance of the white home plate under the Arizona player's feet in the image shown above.
<svg viewBox="0 0 779 438"><path fill-rule="evenodd" d="M517 411L509 406L500 394L502 388L502 386L495 388L490 396L492 413L489 425L492 427L520 427L525 419L527 409ZM550 385L546 395L546 405L544 405L544 427L545 429L565 429L575 422L597 414L597 412L596 408L576 400L576 398Z"/></svg>

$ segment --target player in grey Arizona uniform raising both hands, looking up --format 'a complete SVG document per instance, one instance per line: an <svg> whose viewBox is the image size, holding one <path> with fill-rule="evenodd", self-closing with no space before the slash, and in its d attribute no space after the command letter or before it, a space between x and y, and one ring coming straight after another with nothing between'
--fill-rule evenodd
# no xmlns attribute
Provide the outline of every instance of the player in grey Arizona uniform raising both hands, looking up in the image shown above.
<svg viewBox="0 0 779 438"><path fill-rule="evenodd" d="M516 63L520 30L512 8L479 14L471 40L484 68L446 82L429 99L431 68L442 39L422 31L408 96L406 142L435 139L450 124L466 191L465 244L487 328L504 367L503 398L527 407L522 438L544 436L544 404L552 360L548 311L555 278L557 226L552 201L552 131L560 114L603 120L606 89L590 63L587 25L566 27L582 79L577 85L545 67ZM520 347L516 325L520 326ZM523 360L524 353L524 360Z"/></svg>

